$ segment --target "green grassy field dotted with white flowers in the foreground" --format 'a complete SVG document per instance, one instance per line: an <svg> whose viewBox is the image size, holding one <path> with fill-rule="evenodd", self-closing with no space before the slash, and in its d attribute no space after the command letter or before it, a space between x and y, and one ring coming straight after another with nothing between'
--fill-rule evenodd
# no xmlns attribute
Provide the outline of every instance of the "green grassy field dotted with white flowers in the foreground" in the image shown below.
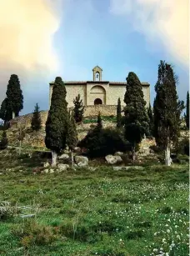
<svg viewBox="0 0 190 256"><path fill-rule="evenodd" d="M40 162L0 154L0 255L188 255L188 165L33 174Z"/></svg>

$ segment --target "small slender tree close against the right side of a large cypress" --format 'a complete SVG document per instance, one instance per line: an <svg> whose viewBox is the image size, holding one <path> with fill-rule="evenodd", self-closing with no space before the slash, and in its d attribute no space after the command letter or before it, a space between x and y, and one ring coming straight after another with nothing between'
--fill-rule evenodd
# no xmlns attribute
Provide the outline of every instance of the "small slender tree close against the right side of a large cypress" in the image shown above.
<svg viewBox="0 0 190 256"><path fill-rule="evenodd" d="M67 146L72 155L72 167L73 167L73 150L77 146L77 126L73 113L69 115L69 125L67 128Z"/></svg>

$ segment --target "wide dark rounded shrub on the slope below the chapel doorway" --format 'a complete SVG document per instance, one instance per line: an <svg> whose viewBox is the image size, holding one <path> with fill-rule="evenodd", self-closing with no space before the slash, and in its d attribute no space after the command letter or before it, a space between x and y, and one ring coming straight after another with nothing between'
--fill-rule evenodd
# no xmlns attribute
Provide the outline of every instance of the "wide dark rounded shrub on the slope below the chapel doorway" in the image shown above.
<svg viewBox="0 0 190 256"><path fill-rule="evenodd" d="M117 151L125 152L131 149L130 144L122 137L122 133L111 128L100 130L94 128L78 143L78 147L87 148L90 157L104 157Z"/></svg>

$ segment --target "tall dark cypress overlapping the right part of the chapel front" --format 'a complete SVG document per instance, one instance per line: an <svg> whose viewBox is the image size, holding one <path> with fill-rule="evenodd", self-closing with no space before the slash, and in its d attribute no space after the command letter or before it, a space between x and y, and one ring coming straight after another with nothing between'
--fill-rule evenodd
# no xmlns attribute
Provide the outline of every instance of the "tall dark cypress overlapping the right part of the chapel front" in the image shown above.
<svg viewBox="0 0 190 256"><path fill-rule="evenodd" d="M135 160L135 148L148 133L148 113L145 108L142 84L138 76L128 73L126 93L124 97L125 113L125 138L132 144L133 161Z"/></svg>

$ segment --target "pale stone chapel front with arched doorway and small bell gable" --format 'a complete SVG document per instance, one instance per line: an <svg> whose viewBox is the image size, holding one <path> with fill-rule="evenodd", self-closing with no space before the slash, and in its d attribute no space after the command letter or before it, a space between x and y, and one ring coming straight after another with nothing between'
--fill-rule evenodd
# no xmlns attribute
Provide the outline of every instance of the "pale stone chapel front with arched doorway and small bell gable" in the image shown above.
<svg viewBox="0 0 190 256"><path fill-rule="evenodd" d="M118 98L122 106L125 105L123 98L126 92L127 82L110 82L102 80L102 68L96 66L92 69L92 81L63 81L67 90L68 107L73 107L73 99L80 94L84 106L93 105L117 105ZM53 84L49 83L49 106L52 98ZM150 84L142 83L143 95L146 107L150 103Z"/></svg>

